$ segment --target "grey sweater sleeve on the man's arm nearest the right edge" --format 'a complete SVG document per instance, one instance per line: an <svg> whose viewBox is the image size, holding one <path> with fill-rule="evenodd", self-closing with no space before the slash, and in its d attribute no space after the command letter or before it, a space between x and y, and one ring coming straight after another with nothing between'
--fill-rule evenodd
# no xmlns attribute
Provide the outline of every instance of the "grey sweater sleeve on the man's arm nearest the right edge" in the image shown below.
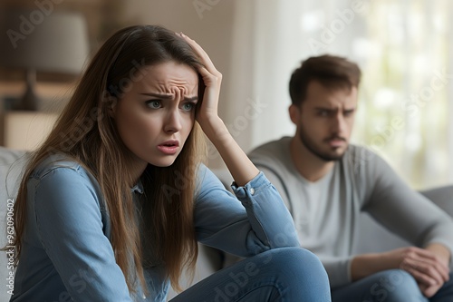
<svg viewBox="0 0 453 302"><path fill-rule="evenodd" d="M440 243L453 255L453 219L447 213L412 190L379 156L366 179L372 190L363 209L382 226L420 248Z"/></svg>

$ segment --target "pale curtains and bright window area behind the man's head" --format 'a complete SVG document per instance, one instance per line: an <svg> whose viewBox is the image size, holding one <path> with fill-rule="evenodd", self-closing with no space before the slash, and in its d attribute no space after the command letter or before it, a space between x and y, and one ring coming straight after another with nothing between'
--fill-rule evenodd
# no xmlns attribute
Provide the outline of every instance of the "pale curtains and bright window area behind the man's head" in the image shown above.
<svg viewBox="0 0 453 302"><path fill-rule="evenodd" d="M452 8L448 0L236 0L228 129L246 151L293 135L291 73L309 56L341 55L363 73L352 142L413 187L452 182Z"/></svg>

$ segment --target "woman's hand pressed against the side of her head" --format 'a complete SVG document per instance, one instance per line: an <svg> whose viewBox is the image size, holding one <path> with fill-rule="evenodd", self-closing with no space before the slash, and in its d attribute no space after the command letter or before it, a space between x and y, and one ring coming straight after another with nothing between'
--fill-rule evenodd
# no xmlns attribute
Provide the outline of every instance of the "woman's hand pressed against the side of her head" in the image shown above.
<svg viewBox="0 0 453 302"><path fill-rule="evenodd" d="M185 34L181 33L178 35L188 42L198 54L201 63L203 63L203 66L198 68L198 73L201 75L206 88L203 100L199 100L201 101L201 105L198 108L197 121L201 128L207 132L209 130L208 127L216 127L216 123L221 122L217 113L217 105L220 85L222 83L222 73L217 71L214 63L212 63L205 50L197 42Z"/></svg>

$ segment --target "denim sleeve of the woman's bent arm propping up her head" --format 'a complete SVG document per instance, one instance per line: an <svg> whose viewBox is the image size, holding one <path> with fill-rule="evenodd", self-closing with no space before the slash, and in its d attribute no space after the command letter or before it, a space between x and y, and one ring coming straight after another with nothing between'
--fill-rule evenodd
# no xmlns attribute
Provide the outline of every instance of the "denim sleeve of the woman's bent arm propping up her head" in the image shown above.
<svg viewBox="0 0 453 302"><path fill-rule="evenodd" d="M195 223L200 242L241 257L299 247L293 219L263 172L243 187L233 185L236 196L205 166L199 176Z"/></svg>

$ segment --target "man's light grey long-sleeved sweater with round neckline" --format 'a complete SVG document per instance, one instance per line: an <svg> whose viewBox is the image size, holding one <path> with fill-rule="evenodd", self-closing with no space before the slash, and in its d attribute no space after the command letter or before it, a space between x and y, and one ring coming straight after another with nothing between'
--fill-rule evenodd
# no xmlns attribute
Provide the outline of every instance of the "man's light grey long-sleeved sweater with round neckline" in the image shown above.
<svg viewBox="0 0 453 302"><path fill-rule="evenodd" d="M333 170L311 182L295 169L290 141L265 143L249 157L282 195L302 247L323 261L331 287L351 282L361 211L414 246L437 242L453 251L453 219L410 189L381 157L350 145Z"/></svg>

